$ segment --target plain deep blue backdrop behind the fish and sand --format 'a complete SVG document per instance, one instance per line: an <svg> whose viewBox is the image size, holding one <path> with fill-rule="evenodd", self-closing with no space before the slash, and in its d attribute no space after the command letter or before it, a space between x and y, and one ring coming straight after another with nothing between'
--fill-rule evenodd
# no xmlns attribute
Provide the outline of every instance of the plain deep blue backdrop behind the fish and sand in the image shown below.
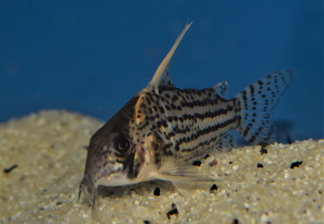
<svg viewBox="0 0 324 224"><path fill-rule="evenodd" d="M0 121L45 109L108 121L170 64L178 88L296 71L274 118L293 140L323 138L323 0L1 1Z"/></svg>

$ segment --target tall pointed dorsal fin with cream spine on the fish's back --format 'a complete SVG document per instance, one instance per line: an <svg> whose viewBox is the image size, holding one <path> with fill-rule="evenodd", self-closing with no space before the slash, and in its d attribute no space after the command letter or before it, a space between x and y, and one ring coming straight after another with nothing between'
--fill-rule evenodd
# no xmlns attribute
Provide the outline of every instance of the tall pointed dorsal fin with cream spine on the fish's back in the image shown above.
<svg viewBox="0 0 324 224"><path fill-rule="evenodd" d="M171 50L168 52L167 56L163 59L161 64L159 65L159 68L157 68L153 79L148 83L148 86L146 89L150 92L155 92L156 94L159 94L159 88L161 87L167 87L167 88L172 88L174 87L171 79L170 79L170 74L169 74L169 63L170 60L172 59L172 56L178 47L181 39L185 35L185 32L190 28L191 23L187 23L179 37L176 39L176 42L172 46Z"/></svg>

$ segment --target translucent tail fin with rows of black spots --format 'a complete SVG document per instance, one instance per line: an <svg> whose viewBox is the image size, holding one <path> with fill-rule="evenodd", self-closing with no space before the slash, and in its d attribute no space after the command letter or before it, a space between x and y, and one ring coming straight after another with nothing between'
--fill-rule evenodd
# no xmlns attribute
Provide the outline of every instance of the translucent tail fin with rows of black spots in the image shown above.
<svg viewBox="0 0 324 224"><path fill-rule="evenodd" d="M292 77L289 70L273 72L236 94L236 131L246 141L255 145L276 141L272 112Z"/></svg>

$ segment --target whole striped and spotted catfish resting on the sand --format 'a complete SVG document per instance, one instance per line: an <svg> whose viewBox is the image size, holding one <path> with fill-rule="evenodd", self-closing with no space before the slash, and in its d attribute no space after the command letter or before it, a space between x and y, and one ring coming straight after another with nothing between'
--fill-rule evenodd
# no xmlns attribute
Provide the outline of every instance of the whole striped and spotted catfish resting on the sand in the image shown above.
<svg viewBox="0 0 324 224"><path fill-rule="evenodd" d="M161 179L179 186L201 181L192 161L212 150L230 150L230 130L252 144L273 143L271 114L292 80L279 71L225 99L227 83L203 90L176 88L170 59L188 24L141 90L90 139L80 194L94 205L99 185L119 186Z"/></svg>

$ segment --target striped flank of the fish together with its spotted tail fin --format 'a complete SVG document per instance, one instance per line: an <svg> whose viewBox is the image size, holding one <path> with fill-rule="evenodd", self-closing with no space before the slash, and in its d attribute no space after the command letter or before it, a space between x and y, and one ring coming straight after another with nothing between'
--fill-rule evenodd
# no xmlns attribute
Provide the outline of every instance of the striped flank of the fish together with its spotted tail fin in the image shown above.
<svg viewBox="0 0 324 224"><path fill-rule="evenodd" d="M290 71L274 72L231 100L223 99L213 88L146 92L136 111L136 117L145 121L139 131L150 128L143 137L155 132L164 141L163 150L168 153L155 152L156 163L163 161L161 156L184 162L199 159L210 150L219 150L222 137L232 129L250 143L272 143L276 137L271 113L291 79Z"/></svg>

